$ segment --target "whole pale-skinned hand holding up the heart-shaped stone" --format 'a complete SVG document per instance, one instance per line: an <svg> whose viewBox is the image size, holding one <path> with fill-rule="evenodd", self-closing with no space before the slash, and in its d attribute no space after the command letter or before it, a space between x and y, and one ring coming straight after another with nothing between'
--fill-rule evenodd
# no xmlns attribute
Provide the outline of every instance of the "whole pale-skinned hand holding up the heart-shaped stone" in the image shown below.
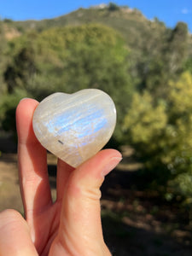
<svg viewBox="0 0 192 256"><path fill-rule="evenodd" d="M56 201L50 194L47 153L32 130L38 102L22 100L16 110L20 192L25 218L0 213L0 256L108 256L102 236L100 187L121 160L105 149L74 169L58 160Z"/></svg>

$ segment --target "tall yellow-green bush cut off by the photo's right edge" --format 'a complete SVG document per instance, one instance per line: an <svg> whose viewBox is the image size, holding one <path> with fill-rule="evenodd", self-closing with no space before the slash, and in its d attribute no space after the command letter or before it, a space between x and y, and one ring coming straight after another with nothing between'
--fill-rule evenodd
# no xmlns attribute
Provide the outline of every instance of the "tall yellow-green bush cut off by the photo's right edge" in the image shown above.
<svg viewBox="0 0 192 256"><path fill-rule="evenodd" d="M169 84L169 90L169 119L174 137L169 160L174 179L170 184L179 194L192 198L192 75L183 73L176 83Z"/></svg>

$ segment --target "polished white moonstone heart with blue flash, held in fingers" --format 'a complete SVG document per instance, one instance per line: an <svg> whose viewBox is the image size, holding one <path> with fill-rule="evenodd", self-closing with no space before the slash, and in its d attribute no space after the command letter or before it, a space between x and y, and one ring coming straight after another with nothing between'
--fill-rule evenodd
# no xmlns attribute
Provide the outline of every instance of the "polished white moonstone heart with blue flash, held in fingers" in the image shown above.
<svg viewBox="0 0 192 256"><path fill-rule="evenodd" d="M44 148L73 167L108 143L115 124L112 99L96 89L52 94L38 104L32 120L35 135Z"/></svg>

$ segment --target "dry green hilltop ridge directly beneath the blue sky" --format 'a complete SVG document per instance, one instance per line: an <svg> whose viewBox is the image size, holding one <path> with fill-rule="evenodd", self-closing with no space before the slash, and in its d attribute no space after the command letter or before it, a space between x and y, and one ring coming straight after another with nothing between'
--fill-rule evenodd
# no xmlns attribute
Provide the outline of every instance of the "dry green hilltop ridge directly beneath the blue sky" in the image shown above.
<svg viewBox="0 0 192 256"><path fill-rule="evenodd" d="M141 47L143 40L153 36L154 29L165 32L166 26L159 20L148 20L137 9L128 7L110 10L105 8L78 9L68 15L50 20L26 20L12 22L19 32L35 29L38 32L55 26L77 26L84 23L102 23L119 31L131 48Z"/></svg>

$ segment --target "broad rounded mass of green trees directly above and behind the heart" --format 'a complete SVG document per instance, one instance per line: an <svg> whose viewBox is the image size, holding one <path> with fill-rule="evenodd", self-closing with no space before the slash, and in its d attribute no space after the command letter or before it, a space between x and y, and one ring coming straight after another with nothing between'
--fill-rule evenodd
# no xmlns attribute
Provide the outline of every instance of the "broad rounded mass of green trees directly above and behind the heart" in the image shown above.
<svg viewBox="0 0 192 256"><path fill-rule="evenodd" d="M55 91L101 89L116 103L120 124L132 84L129 52L118 32L96 24L51 28L15 39L9 54L3 74L9 94L20 89L42 100Z"/></svg>

